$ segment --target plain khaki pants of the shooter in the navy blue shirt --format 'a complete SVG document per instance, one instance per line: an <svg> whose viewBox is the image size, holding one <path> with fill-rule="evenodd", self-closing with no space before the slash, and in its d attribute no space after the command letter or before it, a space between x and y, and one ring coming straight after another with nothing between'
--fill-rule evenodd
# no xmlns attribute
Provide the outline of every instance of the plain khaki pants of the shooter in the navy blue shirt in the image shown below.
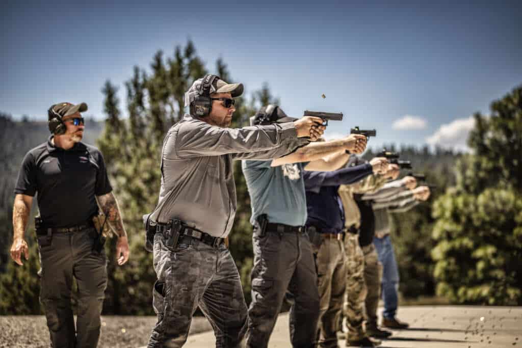
<svg viewBox="0 0 522 348"><path fill-rule="evenodd" d="M323 239L317 250L319 347L337 348L337 330L346 289L346 254L342 241Z"/></svg>

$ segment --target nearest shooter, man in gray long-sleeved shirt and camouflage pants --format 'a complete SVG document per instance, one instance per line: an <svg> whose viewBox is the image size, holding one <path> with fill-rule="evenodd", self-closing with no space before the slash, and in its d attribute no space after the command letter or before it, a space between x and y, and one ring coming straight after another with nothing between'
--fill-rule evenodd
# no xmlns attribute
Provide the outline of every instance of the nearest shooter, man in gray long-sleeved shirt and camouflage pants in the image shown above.
<svg viewBox="0 0 522 348"><path fill-rule="evenodd" d="M320 137L322 119L303 117L278 125L227 128L241 83L215 75L185 93L190 114L170 128L161 152L161 189L149 215L158 280L153 307L158 322L148 347L181 347L199 306L217 347L238 347L247 309L238 269L224 238L236 210L233 159L273 159ZM150 242L150 241L149 241Z"/></svg>

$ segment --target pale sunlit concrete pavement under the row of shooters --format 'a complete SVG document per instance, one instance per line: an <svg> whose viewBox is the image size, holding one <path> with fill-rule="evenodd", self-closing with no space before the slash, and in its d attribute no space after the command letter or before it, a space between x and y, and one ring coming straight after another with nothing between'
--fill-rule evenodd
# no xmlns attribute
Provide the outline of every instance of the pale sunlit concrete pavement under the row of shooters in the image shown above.
<svg viewBox="0 0 522 348"><path fill-rule="evenodd" d="M410 328L394 330L392 337L383 340L382 348L522 347L522 307L402 306L398 318L409 322ZM205 332L189 336L184 347L215 344L213 332ZM345 341L339 346L344 347ZM291 347L288 314L279 315L269 347Z"/></svg>

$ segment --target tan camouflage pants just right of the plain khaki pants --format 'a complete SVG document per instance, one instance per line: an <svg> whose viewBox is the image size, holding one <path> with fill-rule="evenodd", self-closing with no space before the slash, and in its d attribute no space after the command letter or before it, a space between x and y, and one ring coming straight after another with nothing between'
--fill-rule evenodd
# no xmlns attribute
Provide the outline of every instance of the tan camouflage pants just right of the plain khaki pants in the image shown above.
<svg viewBox="0 0 522 348"><path fill-rule="evenodd" d="M359 246L358 234L346 234L345 249L346 292L342 310L348 329L347 339L357 341L366 335L362 323L364 319L364 301L367 294L364 281L365 257Z"/></svg>

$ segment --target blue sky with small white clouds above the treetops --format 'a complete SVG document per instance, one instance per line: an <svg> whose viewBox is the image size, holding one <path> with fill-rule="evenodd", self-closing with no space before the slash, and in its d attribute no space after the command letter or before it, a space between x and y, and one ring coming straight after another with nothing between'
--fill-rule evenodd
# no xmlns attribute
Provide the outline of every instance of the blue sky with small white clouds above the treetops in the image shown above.
<svg viewBox="0 0 522 348"><path fill-rule="evenodd" d="M101 119L105 80L123 104L134 65L190 38L209 70L222 57L247 94L267 82L287 114L343 112L329 137L359 125L372 146L462 148L469 116L522 83L521 3L6 1L0 111L85 101Z"/></svg>

